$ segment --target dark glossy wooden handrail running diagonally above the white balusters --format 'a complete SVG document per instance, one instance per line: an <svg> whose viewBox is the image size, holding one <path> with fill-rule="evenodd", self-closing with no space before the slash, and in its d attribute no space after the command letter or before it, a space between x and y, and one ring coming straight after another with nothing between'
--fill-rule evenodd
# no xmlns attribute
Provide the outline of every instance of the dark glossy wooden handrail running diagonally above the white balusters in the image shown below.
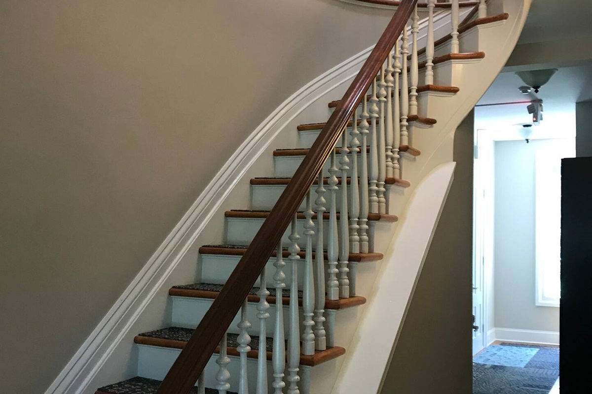
<svg viewBox="0 0 592 394"><path fill-rule="evenodd" d="M402 0L372 53L343 95L313 147L308 151L284 193L263 222L249 248L205 313L191 339L166 374L157 394L188 394L214 353L221 338L255 284L284 230L294 217L318 172L333 151L353 111L366 94L382 63L391 53L417 0Z"/></svg>

